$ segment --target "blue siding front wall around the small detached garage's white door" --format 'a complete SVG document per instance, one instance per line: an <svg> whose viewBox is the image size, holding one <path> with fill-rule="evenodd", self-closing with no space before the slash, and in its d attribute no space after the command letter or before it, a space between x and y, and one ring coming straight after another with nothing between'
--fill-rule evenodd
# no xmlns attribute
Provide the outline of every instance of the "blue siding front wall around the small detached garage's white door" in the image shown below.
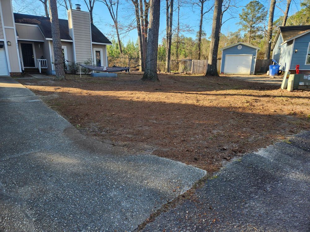
<svg viewBox="0 0 310 232"><path fill-rule="evenodd" d="M241 49L238 49L239 45L233 46L231 48L227 48L223 50L223 58L222 58L222 65L221 65L221 72L224 72L225 67L225 57L226 55L240 55L240 54L251 54L252 56L255 56L255 58L252 58L252 64L251 64L251 74L254 74L254 67L255 67L255 61L256 61L256 49L248 47L246 45L242 45Z"/></svg>

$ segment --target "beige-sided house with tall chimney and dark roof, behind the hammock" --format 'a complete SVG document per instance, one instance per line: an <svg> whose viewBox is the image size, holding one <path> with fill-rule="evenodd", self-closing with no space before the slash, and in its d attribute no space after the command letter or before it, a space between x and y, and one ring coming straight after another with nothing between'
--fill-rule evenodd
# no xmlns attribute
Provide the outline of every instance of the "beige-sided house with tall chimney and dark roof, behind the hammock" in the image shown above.
<svg viewBox="0 0 310 232"><path fill-rule="evenodd" d="M91 24L89 12L77 6L59 26L64 59L107 66L106 46L112 43ZM50 19L13 13L11 0L0 0L0 76L35 69L55 73Z"/></svg>

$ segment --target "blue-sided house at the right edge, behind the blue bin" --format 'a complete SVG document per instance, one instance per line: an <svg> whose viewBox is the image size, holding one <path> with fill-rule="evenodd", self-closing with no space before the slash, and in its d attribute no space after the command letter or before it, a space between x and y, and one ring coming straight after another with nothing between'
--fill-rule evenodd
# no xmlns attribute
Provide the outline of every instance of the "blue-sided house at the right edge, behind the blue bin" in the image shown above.
<svg viewBox="0 0 310 232"><path fill-rule="evenodd" d="M310 25L279 27L272 43L272 58L283 71L310 73Z"/></svg>

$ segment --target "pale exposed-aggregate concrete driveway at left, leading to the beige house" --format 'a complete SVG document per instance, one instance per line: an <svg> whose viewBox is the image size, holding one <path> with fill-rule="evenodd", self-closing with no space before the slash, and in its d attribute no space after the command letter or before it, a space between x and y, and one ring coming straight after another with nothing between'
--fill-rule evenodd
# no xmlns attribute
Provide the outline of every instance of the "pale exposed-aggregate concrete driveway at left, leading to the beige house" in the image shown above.
<svg viewBox="0 0 310 232"><path fill-rule="evenodd" d="M0 78L0 231L132 231L206 173L83 137Z"/></svg>

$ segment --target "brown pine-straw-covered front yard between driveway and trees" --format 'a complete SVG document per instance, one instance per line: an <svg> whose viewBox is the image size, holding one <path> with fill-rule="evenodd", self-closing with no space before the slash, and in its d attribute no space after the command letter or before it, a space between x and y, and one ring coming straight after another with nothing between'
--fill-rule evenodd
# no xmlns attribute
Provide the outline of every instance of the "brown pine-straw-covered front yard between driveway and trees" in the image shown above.
<svg viewBox="0 0 310 232"><path fill-rule="evenodd" d="M208 172L310 126L307 91L228 77L141 77L19 81L88 136Z"/></svg>

